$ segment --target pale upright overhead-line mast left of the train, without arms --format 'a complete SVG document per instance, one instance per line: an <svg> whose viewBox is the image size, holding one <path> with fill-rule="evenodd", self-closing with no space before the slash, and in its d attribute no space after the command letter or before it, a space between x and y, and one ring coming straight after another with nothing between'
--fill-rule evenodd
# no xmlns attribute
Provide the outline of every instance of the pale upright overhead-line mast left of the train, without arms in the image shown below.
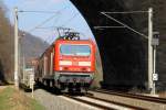
<svg viewBox="0 0 166 110"><path fill-rule="evenodd" d="M19 77L18 77L18 8L14 8L14 86L19 89Z"/></svg>

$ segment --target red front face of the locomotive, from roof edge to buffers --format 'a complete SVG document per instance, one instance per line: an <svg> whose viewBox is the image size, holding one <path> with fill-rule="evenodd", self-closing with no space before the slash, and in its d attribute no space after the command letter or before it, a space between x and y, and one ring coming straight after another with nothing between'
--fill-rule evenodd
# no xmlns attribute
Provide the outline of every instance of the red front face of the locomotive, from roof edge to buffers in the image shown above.
<svg viewBox="0 0 166 110"><path fill-rule="evenodd" d="M61 90L81 90L90 87L95 69L95 47L92 41L55 43L55 79Z"/></svg>

